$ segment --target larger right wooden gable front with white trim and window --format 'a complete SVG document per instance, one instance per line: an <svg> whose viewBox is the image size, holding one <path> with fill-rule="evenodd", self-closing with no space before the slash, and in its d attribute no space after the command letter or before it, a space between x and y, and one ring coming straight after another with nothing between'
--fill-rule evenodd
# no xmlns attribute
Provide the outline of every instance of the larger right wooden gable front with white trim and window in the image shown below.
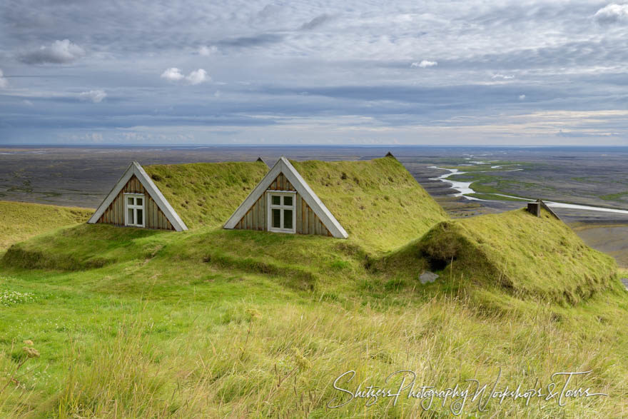
<svg viewBox="0 0 628 419"><path fill-rule="evenodd" d="M283 156L238 206L224 228L348 238L343 226Z"/></svg>

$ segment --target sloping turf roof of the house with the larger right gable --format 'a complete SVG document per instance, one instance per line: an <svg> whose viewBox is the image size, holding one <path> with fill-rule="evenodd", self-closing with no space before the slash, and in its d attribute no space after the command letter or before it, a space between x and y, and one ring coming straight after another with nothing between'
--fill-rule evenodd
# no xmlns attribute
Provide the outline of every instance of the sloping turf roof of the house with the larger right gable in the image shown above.
<svg viewBox="0 0 628 419"><path fill-rule="evenodd" d="M403 246L448 218L395 158L290 163L349 233L349 240L369 252Z"/></svg>

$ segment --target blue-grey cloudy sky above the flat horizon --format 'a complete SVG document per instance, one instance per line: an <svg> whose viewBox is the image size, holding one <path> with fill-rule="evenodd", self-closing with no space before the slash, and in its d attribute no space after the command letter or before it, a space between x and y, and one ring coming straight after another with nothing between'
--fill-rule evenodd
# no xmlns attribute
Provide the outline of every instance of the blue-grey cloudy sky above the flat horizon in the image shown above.
<svg viewBox="0 0 628 419"><path fill-rule="evenodd" d="M628 3L0 5L0 143L628 145Z"/></svg>

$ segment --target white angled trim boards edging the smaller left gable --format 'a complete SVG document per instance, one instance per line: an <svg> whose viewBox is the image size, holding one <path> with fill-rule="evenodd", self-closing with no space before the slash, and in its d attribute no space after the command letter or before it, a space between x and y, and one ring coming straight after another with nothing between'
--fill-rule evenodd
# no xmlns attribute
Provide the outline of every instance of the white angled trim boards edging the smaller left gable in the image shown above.
<svg viewBox="0 0 628 419"><path fill-rule="evenodd" d="M176 231L186 231L188 229L186 223L183 223L183 220L181 220L181 218L178 216L176 211L174 211L170 203L168 203L166 198L164 198L161 191L159 191L159 188L155 185L155 183L153 183L151 177L148 176L146 171L144 171L142 166L140 166L137 161L133 161L133 163L128 166L122 177L118 180L118 183L116 183L116 186L113 186L111 192L109 192L101 205L98 206L98 209L96 209L96 212L93 213L93 216L91 216L91 218L89 218L89 221L87 222L90 224L95 224L98 222L98 219L101 218L103 213L111 205L113 200L116 199L118 193L120 193L122 188L126 185L128 180L133 175L135 175L138 181L141 182L142 186L146 189L146 192L148 192L151 198L153 198L153 201L155 201L163 215L168 218L168 221L170 221L173 228Z"/></svg>

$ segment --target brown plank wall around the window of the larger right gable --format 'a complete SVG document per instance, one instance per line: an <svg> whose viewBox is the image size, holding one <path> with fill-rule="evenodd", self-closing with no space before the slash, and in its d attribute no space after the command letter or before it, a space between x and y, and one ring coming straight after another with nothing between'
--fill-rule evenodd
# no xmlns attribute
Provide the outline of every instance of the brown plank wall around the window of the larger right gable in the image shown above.
<svg viewBox="0 0 628 419"><path fill-rule="evenodd" d="M296 191L283 173L270 183L267 191ZM266 231L268 229L268 216L266 214L266 194L263 193L258 201L238 221L236 228L240 230ZM318 234L319 236L331 236L331 233L320 221L312 208L303 198L296 194L296 232L298 234Z"/></svg>

